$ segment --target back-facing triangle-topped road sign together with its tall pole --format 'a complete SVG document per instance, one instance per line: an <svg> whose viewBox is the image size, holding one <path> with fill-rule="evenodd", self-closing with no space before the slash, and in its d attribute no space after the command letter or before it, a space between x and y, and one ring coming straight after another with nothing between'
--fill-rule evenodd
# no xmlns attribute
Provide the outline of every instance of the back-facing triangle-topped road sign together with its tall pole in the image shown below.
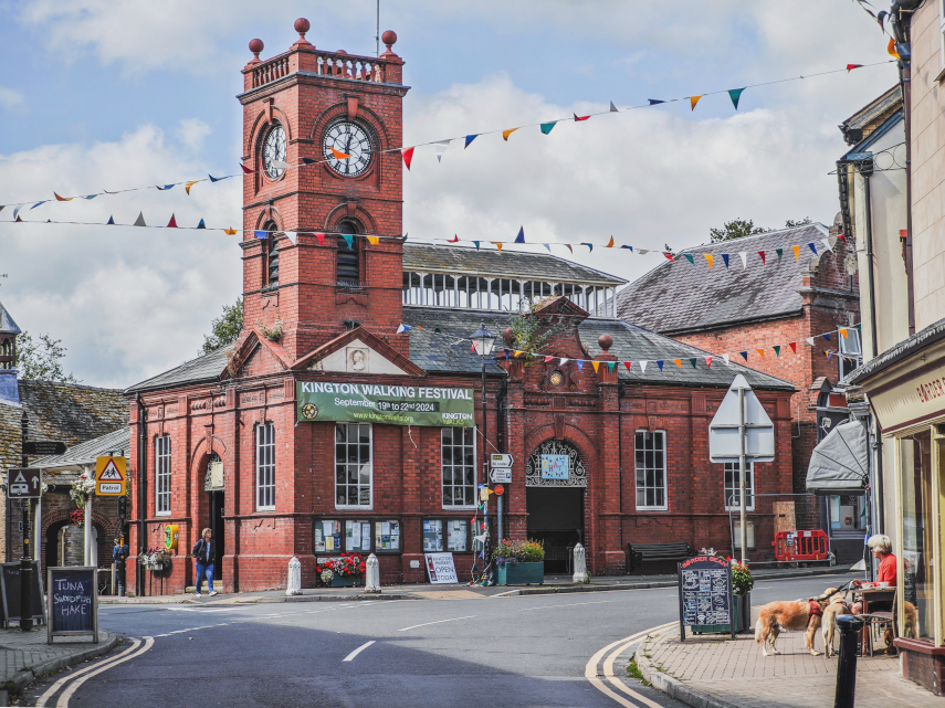
<svg viewBox="0 0 945 708"><path fill-rule="evenodd" d="M732 381L728 392L722 399L715 416L708 424L708 458L712 462L738 463L742 562L747 563L748 539L745 519L747 459L774 461L775 426L758 397L741 373Z"/></svg>

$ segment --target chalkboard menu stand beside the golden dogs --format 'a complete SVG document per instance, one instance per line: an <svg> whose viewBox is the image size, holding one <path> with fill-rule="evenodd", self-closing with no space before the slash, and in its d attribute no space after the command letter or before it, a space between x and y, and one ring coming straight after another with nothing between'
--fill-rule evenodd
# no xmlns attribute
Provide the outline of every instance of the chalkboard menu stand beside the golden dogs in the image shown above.
<svg viewBox="0 0 945 708"><path fill-rule="evenodd" d="M724 558L695 556L679 564L680 640L694 632L731 632L737 620L732 598L732 566Z"/></svg>

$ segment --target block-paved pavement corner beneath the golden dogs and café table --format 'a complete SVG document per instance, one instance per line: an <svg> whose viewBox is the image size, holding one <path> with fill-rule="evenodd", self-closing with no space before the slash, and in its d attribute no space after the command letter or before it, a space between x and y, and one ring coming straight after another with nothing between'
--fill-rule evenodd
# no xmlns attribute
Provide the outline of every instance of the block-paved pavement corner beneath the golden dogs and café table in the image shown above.
<svg viewBox="0 0 945 708"><path fill-rule="evenodd" d="M758 607L753 609L754 621ZM820 631L815 648L822 652ZM837 641L839 647L839 637ZM811 656L804 633L781 633L781 654L764 656L754 633L734 641L720 635L687 635L679 625L652 632L634 654L648 681L696 708L831 708L837 686L837 656ZM900 676L899 659L876 654L857 661L857 708L945 705L942 698Z"/></svg>

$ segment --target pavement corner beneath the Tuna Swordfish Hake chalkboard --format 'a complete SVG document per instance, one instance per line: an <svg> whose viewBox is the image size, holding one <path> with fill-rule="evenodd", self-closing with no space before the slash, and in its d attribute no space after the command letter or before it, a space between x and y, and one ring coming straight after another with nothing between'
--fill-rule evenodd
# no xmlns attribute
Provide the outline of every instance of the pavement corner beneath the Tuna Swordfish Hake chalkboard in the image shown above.
<svg viewBox="0 0 945 708"><path fill-rule="evenodd" d="M101 656L115 648L118 642L117 635L101 628L98 644L93 643L91 636L83 641L54 637L53 644L48 644L45 625L31 632L21 632L19 627L0 630L3 654L0 706L9 706L9 694L20 691L35 678Z"/></svg>

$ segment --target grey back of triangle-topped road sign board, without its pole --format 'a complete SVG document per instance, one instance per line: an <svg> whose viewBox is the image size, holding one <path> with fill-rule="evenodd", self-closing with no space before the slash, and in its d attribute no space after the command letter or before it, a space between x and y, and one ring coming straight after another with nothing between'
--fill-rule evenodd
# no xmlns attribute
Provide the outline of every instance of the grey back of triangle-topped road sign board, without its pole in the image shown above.
<svg viewBox="0 0 945 708"><path fill-rule="evenodd" d="M773 462L775 425L741 373L735 377L708 424L708 458L712 462L738 462L739 459L742 452L742 438L738 434L739 389L745 392L745 455L752 462Z"/></svg>

